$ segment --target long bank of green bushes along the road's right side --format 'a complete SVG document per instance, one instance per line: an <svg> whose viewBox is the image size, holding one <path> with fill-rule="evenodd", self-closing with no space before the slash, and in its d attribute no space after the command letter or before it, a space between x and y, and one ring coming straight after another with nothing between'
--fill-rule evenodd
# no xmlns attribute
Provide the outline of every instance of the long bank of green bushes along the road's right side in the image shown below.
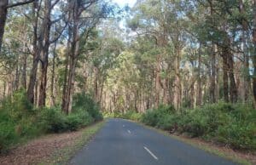
<svg viewBox="0 0 256 165"><path fill-rule="evenodd" d="M218 103L182 114L164 107L148 110L141 121L149 126L213 140L235 149L256 150L256 112L248 105Z"/></svg>

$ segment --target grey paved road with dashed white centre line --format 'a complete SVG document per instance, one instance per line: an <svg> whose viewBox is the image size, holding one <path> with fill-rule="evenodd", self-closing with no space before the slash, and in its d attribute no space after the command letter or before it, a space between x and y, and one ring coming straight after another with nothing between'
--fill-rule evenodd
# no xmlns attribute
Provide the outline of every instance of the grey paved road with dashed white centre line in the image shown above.
<svg viewBox="0 0 256 165"><path fill-rule="evenodd" d="M75 165L234 165L134 122L109 119L70 162Z"/></svg>

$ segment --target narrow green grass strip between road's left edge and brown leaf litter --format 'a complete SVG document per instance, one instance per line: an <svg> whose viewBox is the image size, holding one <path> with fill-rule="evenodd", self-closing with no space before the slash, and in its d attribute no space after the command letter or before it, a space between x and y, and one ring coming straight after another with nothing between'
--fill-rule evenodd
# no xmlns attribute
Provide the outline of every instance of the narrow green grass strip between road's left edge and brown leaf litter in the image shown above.
<svg viewBox="0 0 256 165"><path fill-rule="evenodd" d="M97 122L89 127L84 128L82 135L79 139L73 143L73 145L66 146L61 150L55 151L53 156L49 157L47 160L40 162L39 164L67 164L70 159L79 151L81 150L84 145L86 145L90 139L104 126L105 121Z"/></svg>

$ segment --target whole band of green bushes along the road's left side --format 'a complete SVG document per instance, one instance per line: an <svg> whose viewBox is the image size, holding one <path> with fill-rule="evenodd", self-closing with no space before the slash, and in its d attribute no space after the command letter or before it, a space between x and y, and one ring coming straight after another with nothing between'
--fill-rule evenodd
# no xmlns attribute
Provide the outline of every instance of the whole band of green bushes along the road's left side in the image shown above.
<svg viewBox="0 0 256 165"><path fill-rule="evenodd" d="M20 90L1 102L0 151L43 134L63 133L102 120L99 106L86 94L73 97L73 110L66 115L59 106L34 108Z"/></svg>

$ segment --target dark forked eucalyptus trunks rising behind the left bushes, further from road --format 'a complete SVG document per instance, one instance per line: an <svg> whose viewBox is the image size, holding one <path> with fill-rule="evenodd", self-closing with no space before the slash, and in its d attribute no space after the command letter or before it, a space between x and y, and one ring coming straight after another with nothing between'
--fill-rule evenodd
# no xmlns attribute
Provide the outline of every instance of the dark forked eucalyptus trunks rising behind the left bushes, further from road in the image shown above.
<svg viewBox="0 0 256 165"><path fill-rule="evenodd" d="M37 81L37 72L38 72L38 63L41 64L41 77L39 79L39 94L38 94L38 105L44 106L46 99L46 87L47 87L47 71L48 71L48 57L49 57L49 46L51 43L55 43L57 39L61 36L62 31L64 31L65 26L61 27L58 30L58 35L51 35L51 27L57 21L61 20L60 18L52 19L53 9L55 5L59 3L60 0L55 0L53 3L50 0L44 0L39 2L38 0L34 1L32 9L32 25L33 25L33 50L32 50L32 70L30 74L29 85L27 88L27 98L32 103L37 104L35 101L35 87ZM43 16L41 16L43 14ZM62 14L64 15L64 14ZM63 16L61 16L63 18ZM57 29L55 29L56 31ZM50 37L52 36L52 37Z"/></svg>

